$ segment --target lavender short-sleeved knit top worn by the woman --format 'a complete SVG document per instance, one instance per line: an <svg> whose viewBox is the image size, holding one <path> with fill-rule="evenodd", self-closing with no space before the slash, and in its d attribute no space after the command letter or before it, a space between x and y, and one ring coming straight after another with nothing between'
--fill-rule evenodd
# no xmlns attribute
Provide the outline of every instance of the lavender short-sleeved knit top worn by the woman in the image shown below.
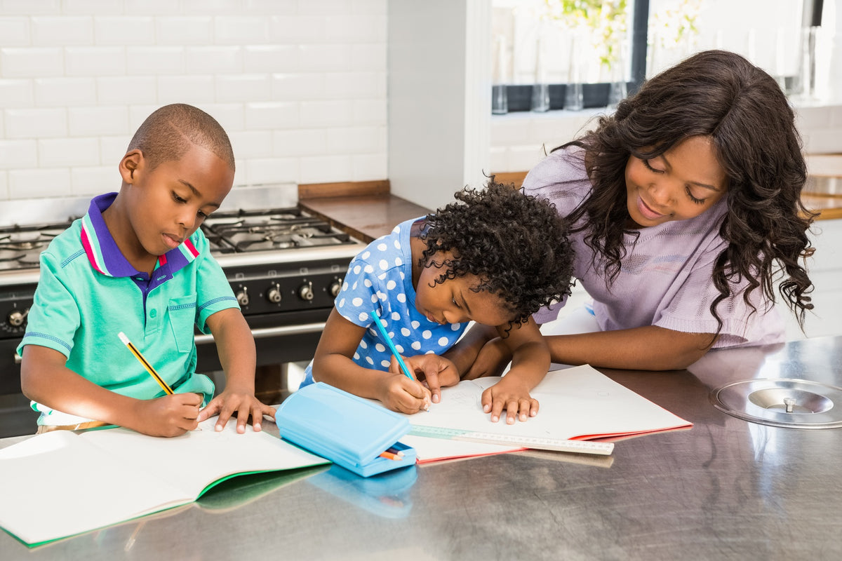
<svg viewBox="0 0 842 561"><path fill-rule="evenodd" d="M583 151L568 148L552 152L526 176L525 193L548 198L559 214L568 215L591 192L584 171ZM585 232L571 236L576 256L573 276L594 298L594 315L603 331L658 325L687 333L714 333L717 320L710 305L719 292L711 281L714 262L725 248L719 225L727 209L722 198L705 213L690 220L676 220L642 228L637 242L626 235L626 257L614 283L606 286L604 267L591 258ZM744 288L746 283L740 283ZM758 290L751 294L757 313L743 302L741 290L717 307L723 325L714 347L763 345L784 341L781 316ZM564 305L539 310L539 324L557 318Z"/></svg>

